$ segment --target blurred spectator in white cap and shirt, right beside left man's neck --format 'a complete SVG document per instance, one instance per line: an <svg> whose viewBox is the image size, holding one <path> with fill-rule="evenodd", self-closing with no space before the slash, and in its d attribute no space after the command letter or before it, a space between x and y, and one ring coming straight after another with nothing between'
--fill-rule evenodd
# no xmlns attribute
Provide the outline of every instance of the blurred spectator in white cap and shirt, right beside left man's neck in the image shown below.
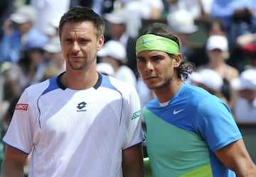
<svg viewBox="0 0 256 177"><path fill-rule="evenodd" d="M102 49L97 52L99 62L107 62L112 65L114 69L114 78L125 81L134 88L137 86L137 78L132 69L127 67L127 53L124 46L117 40L107 41Z"/></svg>

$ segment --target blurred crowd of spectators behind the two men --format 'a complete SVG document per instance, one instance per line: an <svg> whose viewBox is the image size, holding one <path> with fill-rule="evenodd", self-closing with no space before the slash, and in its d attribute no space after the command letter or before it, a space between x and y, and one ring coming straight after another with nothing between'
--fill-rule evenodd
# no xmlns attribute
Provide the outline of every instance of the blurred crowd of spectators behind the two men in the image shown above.
<svg viewBox="0 0 256 177"><path fill-rule="evenodd" d="M135 42L146 25L161 22L180 38L184 59L196 64L186 83L223 99L238 123L256 123L254 0L1 0L1 132L23 89L65 71L58 23L78 5L106 22L98 71L136 87L142 107L154 94L139 78Z"/></svg>

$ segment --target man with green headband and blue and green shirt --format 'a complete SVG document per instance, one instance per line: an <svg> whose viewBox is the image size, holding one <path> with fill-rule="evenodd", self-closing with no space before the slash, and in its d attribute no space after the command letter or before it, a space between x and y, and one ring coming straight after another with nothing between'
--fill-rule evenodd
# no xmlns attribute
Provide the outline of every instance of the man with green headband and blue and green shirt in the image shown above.
<svg viewBox="0 0 256 177"><path fill-rule="evenodd" d="M194 64L183 60L179 41L163 23L137 39L137 69L156 96L143 109L153 176L255 176L228 105L184 83Z"/></svg>

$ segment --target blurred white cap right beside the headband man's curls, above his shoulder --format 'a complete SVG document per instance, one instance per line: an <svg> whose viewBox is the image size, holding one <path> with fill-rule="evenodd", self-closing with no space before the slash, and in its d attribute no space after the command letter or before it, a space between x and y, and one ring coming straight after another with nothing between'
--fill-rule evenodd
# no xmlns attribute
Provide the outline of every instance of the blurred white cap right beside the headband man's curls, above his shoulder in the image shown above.
<svg viewBox="0 0 256 177"><path fill-rule="evenodd" d="M199 72L193 72L191 80L203 84L213 91L220 91L223 86L223 79L213 69L201 69Z"/></svg>

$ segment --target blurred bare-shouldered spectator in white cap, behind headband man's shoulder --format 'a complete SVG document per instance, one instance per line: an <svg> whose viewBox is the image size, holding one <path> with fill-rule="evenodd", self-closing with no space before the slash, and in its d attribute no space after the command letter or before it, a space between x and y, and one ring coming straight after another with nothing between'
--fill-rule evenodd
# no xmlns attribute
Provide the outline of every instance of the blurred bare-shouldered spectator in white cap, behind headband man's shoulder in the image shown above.
<svg viewBox="0 0 256 177"><path fill-rule="evenodd" d="M230 108L233 108L235 93L230 86L230 81L239 76L238 69L226 63L228 59L228 40L223 35L211 35L206 42L206 52L209 58L208 64L198 67L197 71L203 68L213 69L223 79L221 93L228 99Z"/></svg>

